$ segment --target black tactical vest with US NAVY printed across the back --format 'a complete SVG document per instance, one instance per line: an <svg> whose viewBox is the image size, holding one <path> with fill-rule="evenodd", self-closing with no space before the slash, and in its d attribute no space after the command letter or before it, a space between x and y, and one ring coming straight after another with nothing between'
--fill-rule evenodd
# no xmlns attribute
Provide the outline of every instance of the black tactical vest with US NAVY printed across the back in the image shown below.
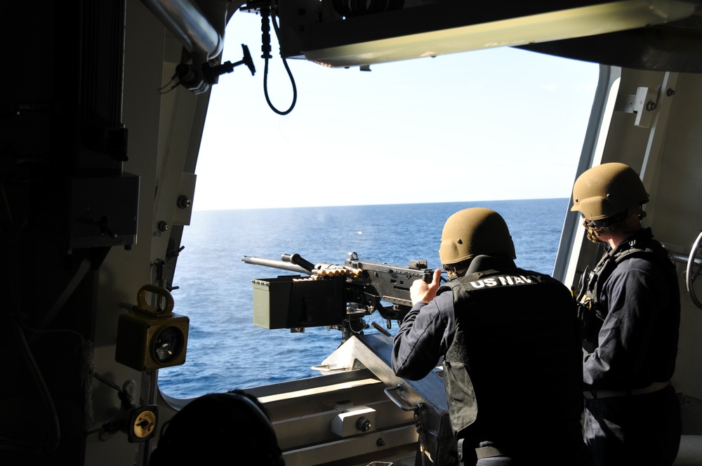
<svg viewBox="0 0 702 466"><path fill-rule="evenodd" d="M444 383L453 432L475 441L523 437L519 413L532 401L544 422L579 420L582 353L568 289L548 275L510 269L469 274L439 293L449 290L456 333Z"/></svg>

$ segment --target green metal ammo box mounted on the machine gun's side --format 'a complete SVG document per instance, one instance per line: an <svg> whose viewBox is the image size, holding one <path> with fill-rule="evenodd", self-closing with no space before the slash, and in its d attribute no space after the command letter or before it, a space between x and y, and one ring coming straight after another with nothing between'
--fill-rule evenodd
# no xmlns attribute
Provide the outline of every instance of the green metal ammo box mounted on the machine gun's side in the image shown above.
<svg viewBox="0 0 702 466"><path fill-rule="evenodd" d="M340 325L346 315L343 278L300 275L253 279L253 325L304 328Z"/></svg>

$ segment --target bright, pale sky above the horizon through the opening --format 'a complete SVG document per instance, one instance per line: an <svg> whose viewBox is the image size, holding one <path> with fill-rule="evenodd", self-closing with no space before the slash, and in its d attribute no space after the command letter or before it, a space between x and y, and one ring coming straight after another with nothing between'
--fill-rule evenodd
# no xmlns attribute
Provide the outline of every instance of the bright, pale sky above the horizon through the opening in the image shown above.
<svg viewBox="0 0 702 466"><path fill-rule="evenodd" d="M274 31L271 28L271 34ZM260 17L235 13L213 86L194 209L569 197L598 67L496 48L329 69L287 60L286 116L263 92ZM274 39L274 37L273 37ZM292 90L272 44L268 90Z"/></svg>

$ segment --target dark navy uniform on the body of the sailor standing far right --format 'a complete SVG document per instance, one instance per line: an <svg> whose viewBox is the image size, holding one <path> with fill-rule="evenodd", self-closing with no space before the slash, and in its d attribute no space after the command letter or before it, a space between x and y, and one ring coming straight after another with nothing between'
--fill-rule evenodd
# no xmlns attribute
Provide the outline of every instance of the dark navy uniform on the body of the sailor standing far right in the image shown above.
<svg viewBox="0 0 702 466"><path fill-rule="evenodd" d="M602 260L651 241L642 229ZM597 301L607 317L583 364L585 441L597 466L670 466L681 433L669 384L680 327L675 266L661 253L634 253L602 278Z"/></svg>

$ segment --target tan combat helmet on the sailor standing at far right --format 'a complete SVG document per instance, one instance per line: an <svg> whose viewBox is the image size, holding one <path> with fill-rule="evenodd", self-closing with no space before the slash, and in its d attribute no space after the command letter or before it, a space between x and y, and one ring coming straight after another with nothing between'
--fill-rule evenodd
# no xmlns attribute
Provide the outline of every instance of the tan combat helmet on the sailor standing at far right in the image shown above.
<svg viewBox="0 0 702 466"><path fill-rule="evenodd" d="M582 213L590 221L614 220L625 211L641 212L641 205L648 201L639 175L628 165L613 162L592 167L578 177L571 211Z"/></svg>

